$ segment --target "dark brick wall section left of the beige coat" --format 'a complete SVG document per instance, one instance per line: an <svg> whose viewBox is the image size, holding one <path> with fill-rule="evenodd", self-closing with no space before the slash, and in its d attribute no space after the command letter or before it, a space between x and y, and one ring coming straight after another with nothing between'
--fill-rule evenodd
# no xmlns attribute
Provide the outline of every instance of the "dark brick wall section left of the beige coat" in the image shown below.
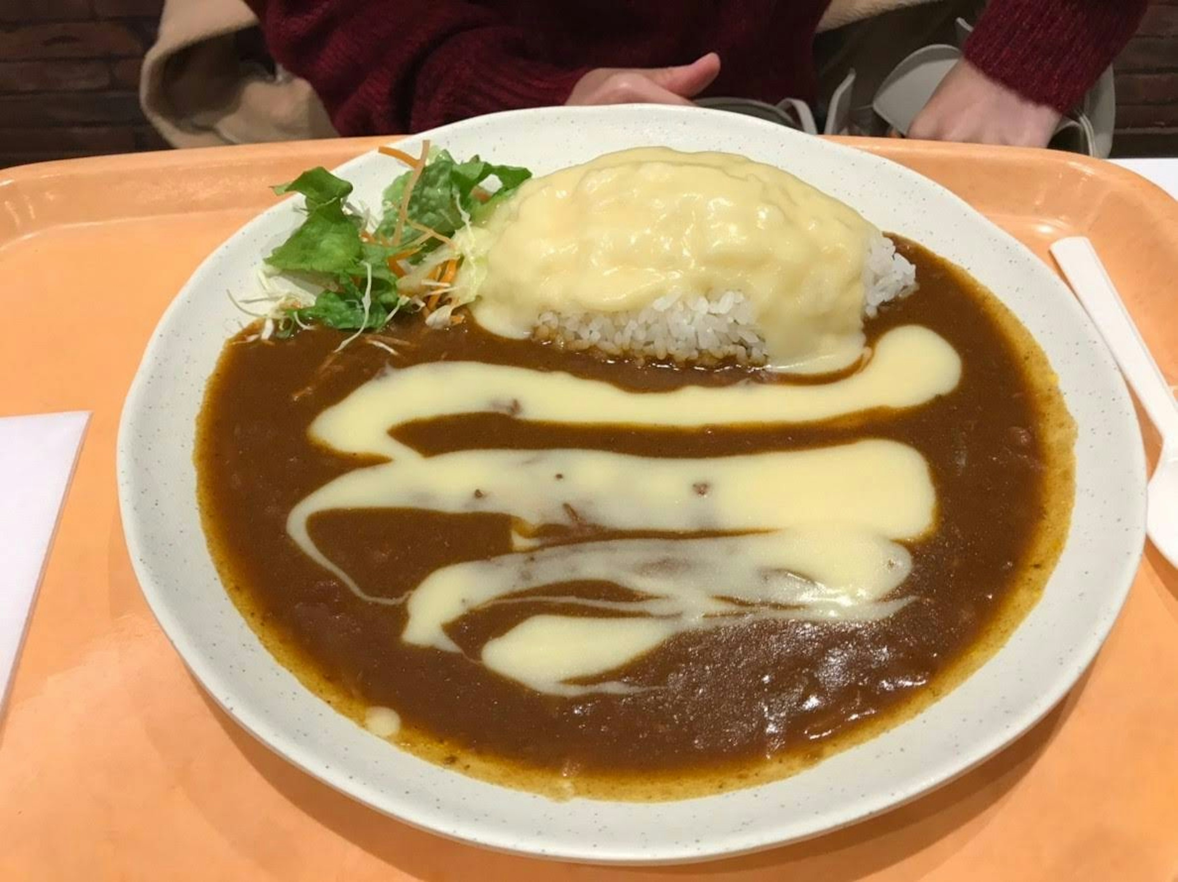
<svg viewBox="0 0 1178 882"><path fill-rule="evenodd" d="M166 147L139 111L163 0L0 0L0 167Z"/></svg>

